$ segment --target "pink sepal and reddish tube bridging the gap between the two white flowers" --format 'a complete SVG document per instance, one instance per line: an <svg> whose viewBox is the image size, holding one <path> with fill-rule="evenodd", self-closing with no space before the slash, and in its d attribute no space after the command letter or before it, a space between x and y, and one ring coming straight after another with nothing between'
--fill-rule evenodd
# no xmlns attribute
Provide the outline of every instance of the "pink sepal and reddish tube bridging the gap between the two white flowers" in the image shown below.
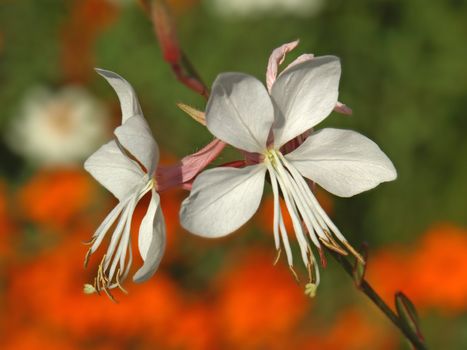
<svg viewBox="0 0 467 350"><path fill-rule="evenodd" d="M214 139L196 153L184 157L170 166L159 166L156 172L158 191L188 183L209 165L225 147L225 143Z"/></svg>

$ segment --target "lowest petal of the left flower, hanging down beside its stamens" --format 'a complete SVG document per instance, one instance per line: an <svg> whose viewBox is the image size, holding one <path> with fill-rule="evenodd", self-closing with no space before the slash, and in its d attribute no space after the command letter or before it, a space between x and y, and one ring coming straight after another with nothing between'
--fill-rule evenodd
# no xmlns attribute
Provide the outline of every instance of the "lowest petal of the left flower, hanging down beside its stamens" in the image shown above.
<svg viewBox="0 0 467 350"><path fill-rule="evenodd" d="M138 247L143 266L133 276L134 282L144 282L156 272L164 255L166 243L165 222L159 205L159 195L153 189L151 202L141 221Z"/></svg>

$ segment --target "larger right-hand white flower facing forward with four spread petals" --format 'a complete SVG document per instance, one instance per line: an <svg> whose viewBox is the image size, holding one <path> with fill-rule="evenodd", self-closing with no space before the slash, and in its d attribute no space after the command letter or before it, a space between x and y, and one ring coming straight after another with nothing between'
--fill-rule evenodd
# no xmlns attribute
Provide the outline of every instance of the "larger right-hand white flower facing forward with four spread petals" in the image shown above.
<svg viewBox="0 0 467 350"><path fill-rule="evenodd" d="M318 204L306 179L335 195L349 197L394 180L396 170L391 161L373 141L350 130L322 129L288 154L281 148L335 108L340 73L337 57L316 57L282 72L270 94L249 75L219 75L206 108L207 127L224 142L259 154L260 160L241 169L221 167L201 173L182 204L183 227L204 237L235 231L258 209L268 174L275 199L275 245L280 252L282 242L291 269L292 250L279 206L280 193L292 218L303 263L310 276L314 270L311 282L319 283L319 273L310 243L320 254L323 244L360 258Z"/></svg>

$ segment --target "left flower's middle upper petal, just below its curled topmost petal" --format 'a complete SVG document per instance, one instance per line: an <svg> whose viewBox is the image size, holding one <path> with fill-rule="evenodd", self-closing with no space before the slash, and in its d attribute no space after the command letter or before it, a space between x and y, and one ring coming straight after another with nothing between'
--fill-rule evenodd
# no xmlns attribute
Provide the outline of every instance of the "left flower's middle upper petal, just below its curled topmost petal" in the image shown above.
<svg viewBox="0 0 467 350"><path fill-rule="evenodd" d="M115 129L115 136L152 175L159 162L159 147L144 117L135 115L129 118Z"/></svg>

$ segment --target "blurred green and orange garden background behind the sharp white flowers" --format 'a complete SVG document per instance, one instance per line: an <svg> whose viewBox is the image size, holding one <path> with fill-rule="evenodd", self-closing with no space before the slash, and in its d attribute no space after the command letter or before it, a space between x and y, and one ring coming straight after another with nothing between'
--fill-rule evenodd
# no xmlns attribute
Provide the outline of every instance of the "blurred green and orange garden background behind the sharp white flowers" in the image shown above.
<svg viewBox="0 0 467 350"><path fill-rule="evenodd" d="M397 290L411 298L430 348L466 349L467 2L169 5L208 86L224 71L263 80L270 52L297 38L288 62L305 52L341 58L339 99L354 114L333 113L324 125L375 140L399 178L348 199L319 190L319 200L354 246L368 242L367 277L384 299L392 305ZM82 163L120 122L117 97L93 67L133 84L163 163L211 140L177 109L205 102L175 80L137 1L3 0L2 349L409 348L332 259L312 300L284 261L272 266L269 189L254 219L220 241L180 228L187 192L163 193L169 242L155 277L126 283L130 293L116 293L118 304L84 295L99 258L84 270L81 242L115 200Z"/></svg>

